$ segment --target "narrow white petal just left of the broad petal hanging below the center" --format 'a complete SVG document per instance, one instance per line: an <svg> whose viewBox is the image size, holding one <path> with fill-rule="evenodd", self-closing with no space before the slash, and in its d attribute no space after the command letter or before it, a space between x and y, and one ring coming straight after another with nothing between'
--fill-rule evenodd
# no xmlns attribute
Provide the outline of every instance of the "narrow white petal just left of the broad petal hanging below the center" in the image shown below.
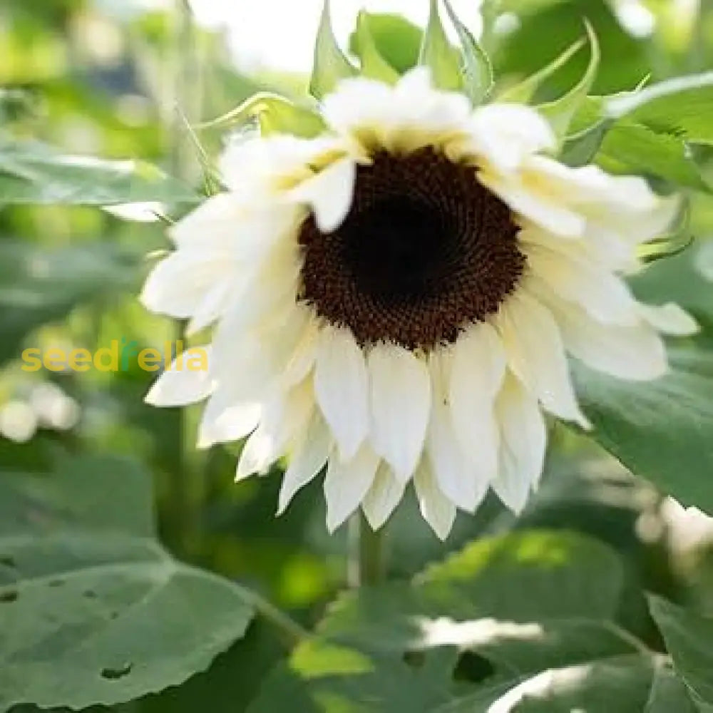
<svg viewBox="0 0 713 713"><path fill-rule="evenodd" d="M349 460L369 433L369 378L349 329L324 327L317 344L314 389L342 458Z"/></svg>

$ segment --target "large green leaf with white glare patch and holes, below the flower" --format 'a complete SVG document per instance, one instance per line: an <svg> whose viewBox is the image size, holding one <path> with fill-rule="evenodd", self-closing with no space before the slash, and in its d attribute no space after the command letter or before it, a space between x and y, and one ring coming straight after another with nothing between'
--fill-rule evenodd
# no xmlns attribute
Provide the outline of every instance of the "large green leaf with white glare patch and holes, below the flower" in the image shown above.
<svg viewBox="0 0 713 713"><path fill-rule="evenodd" d="M612 622L621 588L617 557L583 536L532 531L482 540L411 585L340 597L319 638L267 679L250 713L290 701L305 712L481 710L474 701L491 675L506 681L498 698L548 668L606 667L642 647ZM636 679L642 701L646 673ZM595 682L590 695L594 689Z"/></svg>

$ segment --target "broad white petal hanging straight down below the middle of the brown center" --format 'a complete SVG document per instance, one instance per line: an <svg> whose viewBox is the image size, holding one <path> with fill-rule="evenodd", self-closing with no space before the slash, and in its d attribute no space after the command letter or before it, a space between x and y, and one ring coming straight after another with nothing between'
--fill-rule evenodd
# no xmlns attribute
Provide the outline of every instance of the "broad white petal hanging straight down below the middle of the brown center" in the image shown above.
<svg viewBox="0 0 713 713"><path fill-rule="evenodd" d="M369 354L371 443L407 481L424 448L431 409L431 378L423 359L396 344L377 344Z"/></svg>

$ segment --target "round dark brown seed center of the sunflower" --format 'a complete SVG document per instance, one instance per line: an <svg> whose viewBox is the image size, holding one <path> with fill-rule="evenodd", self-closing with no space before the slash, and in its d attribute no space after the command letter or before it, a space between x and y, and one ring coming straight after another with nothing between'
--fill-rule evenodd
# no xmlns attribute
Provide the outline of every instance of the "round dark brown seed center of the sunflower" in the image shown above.
<svg viewBox="0 0 713 713"><path fill-rule="evenodd" d="M476 170L432 148L379 153L356 171L352 210L332 233L309 217L302 293L360 344L431 349L498 310L525 257L508 207Z"/></svg>

